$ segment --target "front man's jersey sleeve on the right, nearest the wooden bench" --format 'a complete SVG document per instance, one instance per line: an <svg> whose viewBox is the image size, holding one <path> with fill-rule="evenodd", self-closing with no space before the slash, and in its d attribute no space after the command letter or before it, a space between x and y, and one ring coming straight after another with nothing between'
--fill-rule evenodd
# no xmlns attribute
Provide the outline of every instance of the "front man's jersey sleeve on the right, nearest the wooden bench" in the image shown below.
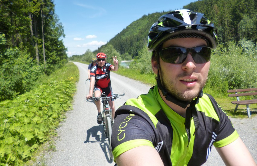
<svg viewBox="0 0 257 166"><path fill-rule="evenodd" d="M216 129L217 136L213 145L215 147L223 147L235 141L239 137L239 135L236 132L236 129L234 128L225 110L223 110L223 108L216 103L212 96L208 96L210 97L213 107L215 108L216 113L219 117L219 126Z"/></svg>

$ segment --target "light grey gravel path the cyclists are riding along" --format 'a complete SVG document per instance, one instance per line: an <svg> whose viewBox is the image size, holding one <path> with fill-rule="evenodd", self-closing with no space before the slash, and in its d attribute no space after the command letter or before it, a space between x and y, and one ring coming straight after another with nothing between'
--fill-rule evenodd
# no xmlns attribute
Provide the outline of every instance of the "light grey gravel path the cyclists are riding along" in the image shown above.
<svg viewBox="0 0 257 166"><path fill-rule="evenodd" d="M88 65L74 62L80 71L80 80L77 83L77 92L74 95L73 110L66 113L65 122L57 129L58 137L55 139L55 151L47 151L41 154L37 164L34 165L114 165L109 159L107 140L103 135L103 126L96 123L97 110L95 104L86 101L89 91L87 79ZM120 75L111 73L112 88L115 94L125 96L115 100L118 108L129 98L136 98L140 94L148 92L150 86L144 85ZM257 162L256 141L257 138L257 116L245 119L231 118L236 130L243 142L249 148L255 162ZM212 149L210 157L204 165L224 165L215 148Z"/></svg>

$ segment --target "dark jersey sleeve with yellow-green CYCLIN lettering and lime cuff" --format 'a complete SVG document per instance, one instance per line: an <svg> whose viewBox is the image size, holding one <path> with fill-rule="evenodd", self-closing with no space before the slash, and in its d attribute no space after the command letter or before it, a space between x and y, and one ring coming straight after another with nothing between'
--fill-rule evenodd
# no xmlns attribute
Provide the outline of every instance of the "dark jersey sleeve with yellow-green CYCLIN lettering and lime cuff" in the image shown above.
<svg viewBox="0 0 257 166"><path fill-rule="evenodd" d="M132 109L126 109L128 107ZM143 111L140 112L143 113ZM133 110L133 106L122 106L116 110L112 127L114 161L119 155L132 148L143 145L154 147L155 134L152 127L147 119Z"/></svg>

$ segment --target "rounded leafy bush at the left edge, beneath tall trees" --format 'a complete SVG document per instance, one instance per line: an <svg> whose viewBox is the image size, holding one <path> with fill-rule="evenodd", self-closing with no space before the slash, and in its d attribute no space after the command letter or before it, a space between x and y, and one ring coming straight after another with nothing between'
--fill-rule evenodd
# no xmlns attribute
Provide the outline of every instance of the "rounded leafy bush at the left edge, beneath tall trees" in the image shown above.
<svg viewBox="0 0 257 166"><path fill-rule="evenodd" d="M43 67L33 62L26 49L6 49L0 56L0 101L29 91L43 73Z"/></svg>

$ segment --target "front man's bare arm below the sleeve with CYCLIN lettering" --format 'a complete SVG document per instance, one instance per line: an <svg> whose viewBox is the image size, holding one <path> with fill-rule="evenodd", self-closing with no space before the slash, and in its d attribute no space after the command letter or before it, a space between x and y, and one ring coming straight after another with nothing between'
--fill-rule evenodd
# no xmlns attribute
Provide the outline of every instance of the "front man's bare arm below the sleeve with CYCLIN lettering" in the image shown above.
<svg viewBox="0 0 257 166"><path fill-rule="evenodd" d="M126 151L116 158L116 163L119 166L163 166L160 155L154 147L139 146L129 151Z"/></svg>

